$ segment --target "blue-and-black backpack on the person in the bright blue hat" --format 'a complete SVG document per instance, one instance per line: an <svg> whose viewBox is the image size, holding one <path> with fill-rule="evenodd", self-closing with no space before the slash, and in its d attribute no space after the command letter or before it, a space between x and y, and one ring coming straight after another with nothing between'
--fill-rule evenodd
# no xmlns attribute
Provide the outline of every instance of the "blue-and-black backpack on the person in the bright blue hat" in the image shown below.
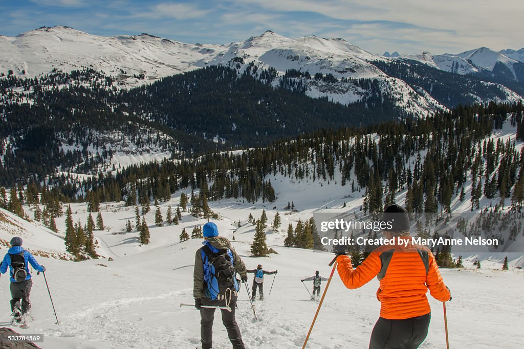
<svg viewBox="0 0 524 349"><path fill-rule="evenodd" d="M230 249L219 250L210 243L202 246L202 264L204 267L205 296L211 300L223 300L227 290L231 294L239 289L233 266L233 254ZM228 296L228 298L230 298ZM231 299L231 298L230 298Z"/></svg>

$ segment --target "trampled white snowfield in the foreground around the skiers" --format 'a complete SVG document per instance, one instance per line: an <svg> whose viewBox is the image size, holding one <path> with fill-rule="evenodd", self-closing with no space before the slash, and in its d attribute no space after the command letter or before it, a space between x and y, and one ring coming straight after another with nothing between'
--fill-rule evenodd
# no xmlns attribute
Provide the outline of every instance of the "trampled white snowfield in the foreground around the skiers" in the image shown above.
<svg viewBox="0 0 524 349"><path fill-rule="evenodd" d="M273 182L273 181L272 181ZM285 185L281 183L280 185ZM305 184L305 183L304 183ZM287 183L288 188L290 183ZM276 185L276 189L277 189ZM287 198L280 198L265 207L269 222L280 209L282 227L278 233L268 231L268 245L278 254L271 257L250 257L250 243L253 240L254 226L247 222L249 213L255 218L261 214L263 205L242 204L241 201L213 202L211 208L219 213L216 221L221 235L232 240L238 254L248 268L263 264L271 271L278 269L274 288L269 294L273 281L266 276L265 300L256 301L260 318L254 320L244 285L239 293L237 321L243 333L247 348L295 348L301 347L311 324L317 303L309 300L309 294L301 285L300 279L314 274L329 277L332 253L319 253L310 250L283 247L288 223L312 216L314 203L319 206L339 206L344 198L335 196L336 185L324 185L326 201L319 201L311 195L311 190L291 186L296 192L289 197L304 202L308 208L300 212L289 212L281 207ZM319 186L320 187L320 186ZM313 190L318 190L314 189ZM333 195L332 200L328 198ZM160 207L165 217L167 205L173 208L180 193L173 195L171 201L162 202ZM309 197L309 202L307 198ZM345 199L347 200L347 198ZM348 209L359 206L350 203ZM298 205L300 206L300 205ZM340 207L340 206L339 206ZM29 208L24 208L30 212ZM88 213L85 204L72 205L73 220L80 218L85 222ZM180 303L192 303L192 273L194 253L201 246L200 239L179 242L182 228L188 233L195 224L203 224L183 213L178 226L156 227L155 208L146 215L151 232L151 244L139 246L137 232L122 233L125 222L134 222L134 207L123 203L102 205L102 215L106 229L96 232L99 243L97 250L105 258L84 262L61 261L37 256L37 260L48 269L46 273L59 325L54 324L54 315L42 275L33 274L34 285L31 291L32 315L34 321L30 328L18 329L20 333L40 333L45 335L42 348L194 348L200 340L200 315L191 307L180 307ZM3 215L13 215L2 211ZM289 214L290 213L290 214ZM241 228L237 228L238 220ZM64 231L63 218L57 219L58 229ZM31 223L23 227L33 235L23 231L13 231L24 237L25 247L32 249L37 244L40 249L59 249L56 234L46 228ZM35 230L39 229L39 230ZM9 240L13 235L9 226L3 226L2 239ZM1 246L2 252L6 247ZM524 334L520 331L521 302L510 302L524 287L524 272L516 266L524 264L524 258L510 262L510 271L501 271L501 258L504 254L492 254L492 261L482 260L482 269L472 265L478 255L465 258L465 269L441 269L446 285L450 287L453 300L447 305L447 318L450 331L450 345L453 348L520 348ZM108 261L112 257L113 261ZM496 260L496 261L494 261ZM10 299L8 278L0 280L0 298L4 306L0 309L2 325L10 323ZM252 283L249 278L248 288ZM312 285L305 283L310 291ZM323 283L323 288L325 288ZM367 348L370 333L378 318L379 302L375 298L378 287L376 279L361 289L348 290L335 271L329 291L326 294L319 317L315 323L309 348ZM427 340L422 348L444 348L444 324L442 303L430 298L432 321ZM520 333L520 334L519 334ZM225 329L217 318L214 325L214 347L231 347Z"/></svg>

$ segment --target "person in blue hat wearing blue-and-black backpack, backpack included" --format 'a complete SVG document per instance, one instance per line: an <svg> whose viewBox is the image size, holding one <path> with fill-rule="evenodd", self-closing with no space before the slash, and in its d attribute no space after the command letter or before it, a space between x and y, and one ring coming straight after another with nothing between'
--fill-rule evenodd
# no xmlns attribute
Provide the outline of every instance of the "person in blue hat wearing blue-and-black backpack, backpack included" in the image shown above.
<svg viewBox="0 0 524 349"><path fill-rule="evenodd" d="M235 319L238 281L235 274L241 275L242 282L247 282L246 266L231 246L231 242L219 237L219 230L213 222L205 223L202 228L205 241L196 250L193 270L193 296L195 308L200 310L200 336L202 349L210 349L213 344L214 308L201 306L228 306L231 312L221 309L222 323L233 349L244 349L242 334ZM220 269L220 270L219 270ZM216 278L216 272L222 277ZM223 277L229 273L227 277Z"/></svg>

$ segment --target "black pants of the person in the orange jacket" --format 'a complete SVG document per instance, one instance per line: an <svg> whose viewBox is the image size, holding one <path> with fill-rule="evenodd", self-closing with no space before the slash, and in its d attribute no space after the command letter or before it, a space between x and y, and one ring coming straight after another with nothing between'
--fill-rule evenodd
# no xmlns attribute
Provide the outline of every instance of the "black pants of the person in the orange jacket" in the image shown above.
<svg viewBox="0 0 524 349"><path fill-rule="evenodd" d="M431 313L405 320L378 318L369 349L417 349L428 335Z"/></svg>

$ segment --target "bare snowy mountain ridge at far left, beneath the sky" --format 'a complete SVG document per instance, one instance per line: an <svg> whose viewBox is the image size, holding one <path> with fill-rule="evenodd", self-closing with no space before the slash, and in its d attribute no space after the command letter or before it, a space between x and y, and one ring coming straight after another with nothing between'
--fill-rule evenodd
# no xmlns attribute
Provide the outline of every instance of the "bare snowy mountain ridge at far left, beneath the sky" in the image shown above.
<svg viewBox="0 0 524 349"><path fill-rule="evenodd" d="M195 69L194 61L214 52L215 46L187 44L140 34L101 37L57 26L38 28L16 37L0 36L0 71L37 76L53 69L88 67L134 85Z"/></svg>

